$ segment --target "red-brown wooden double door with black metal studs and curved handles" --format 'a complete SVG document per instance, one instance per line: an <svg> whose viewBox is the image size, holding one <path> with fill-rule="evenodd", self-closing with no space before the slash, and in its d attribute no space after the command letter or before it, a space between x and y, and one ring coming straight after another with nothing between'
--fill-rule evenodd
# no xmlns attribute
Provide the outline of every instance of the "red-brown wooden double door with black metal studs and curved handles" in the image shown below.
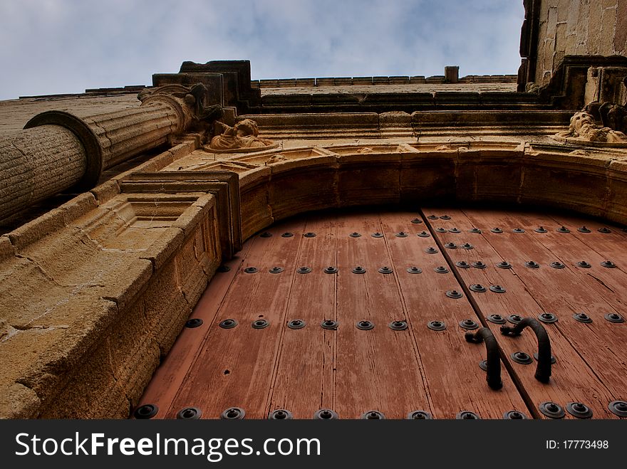
<svg viewBox="0 0 627 469"><path fill-rule="evenodd" d="M577 231L586 224L590 233ZM562 225L569 232L556 231ZM192 314L202 325L182 331L140 404L156 406L157 418L184 409L220 418L234 408L245 418L277 409L294 418L320 409L339 418L547 418L543 403L558 404L565 418L618 418L610 407L627 399L627 329L615 322L626 312L627 235L598 228L546 214L428 208L276 223L216 274ZM511 267L497 265L504 260ZM504 291L489 289L496 285ZM557 322L541 321L549 312ZM592 322L576 320L582 312ZM539 320L556 359L548 383L535 379L534 359L512 358L537 352L533 332L504 336L492 315ZM487 385L486 347L467 342L465 320L496 337L501 389ZM620 414L621 404L613 409Z"/></svg>

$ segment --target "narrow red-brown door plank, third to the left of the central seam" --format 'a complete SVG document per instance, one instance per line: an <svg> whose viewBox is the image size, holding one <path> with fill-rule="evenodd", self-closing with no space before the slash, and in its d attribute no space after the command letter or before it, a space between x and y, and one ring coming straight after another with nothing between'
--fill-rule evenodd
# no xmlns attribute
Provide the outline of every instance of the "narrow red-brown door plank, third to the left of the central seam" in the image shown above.
<svg viewBox="0 0 627 469"><path fill-rule="evenodd" d="M298 330L284 328L269 404L269 411L286 409L294 418L312 418L318 409L335 408L337 334L321 327L324 320L337 320L337 275L323 272L337 265L335 218L309 215L305 230L317 236L302 243L296 265L312 271L295 275L286 318L306 325Z"/></svg>

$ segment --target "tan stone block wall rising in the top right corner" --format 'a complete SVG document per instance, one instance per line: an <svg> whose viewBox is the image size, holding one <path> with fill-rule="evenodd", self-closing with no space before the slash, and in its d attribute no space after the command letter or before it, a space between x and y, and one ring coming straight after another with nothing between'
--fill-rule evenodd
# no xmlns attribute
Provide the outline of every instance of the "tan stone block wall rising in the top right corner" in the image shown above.
<svg viewBox="0 0 627 469"><path fill-rule="evenodd" d="M627 0L537 1L536 83L549 83L564 56L627 56Z"/></svg>

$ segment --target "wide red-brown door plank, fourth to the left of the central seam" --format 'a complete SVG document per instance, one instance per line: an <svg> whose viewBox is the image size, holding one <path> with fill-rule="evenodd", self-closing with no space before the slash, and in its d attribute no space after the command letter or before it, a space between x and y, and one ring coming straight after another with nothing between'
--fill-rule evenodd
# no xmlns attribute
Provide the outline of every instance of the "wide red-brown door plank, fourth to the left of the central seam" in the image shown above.
<svg viewBox="0 0 627 469"><path fill-rule="evenodd" d="M186 407L200 409L202 418L219 418L222 411L232 407L244 409L246 418L267 417L287 299L294 276L300 275L296 273L296 260L304 240L303 228L304 221L286 221L269 230L271 238L255 241L167 417L174 418ZM282 238L285 231L294 232L294 236ZM284 271L269 273L274 266ZM259 272L244 273L247 267L259 268ZM233 329L218 326L229 318L239 325ZM269 320L269 327L253 329L252 322L259 319Z"/></svg>

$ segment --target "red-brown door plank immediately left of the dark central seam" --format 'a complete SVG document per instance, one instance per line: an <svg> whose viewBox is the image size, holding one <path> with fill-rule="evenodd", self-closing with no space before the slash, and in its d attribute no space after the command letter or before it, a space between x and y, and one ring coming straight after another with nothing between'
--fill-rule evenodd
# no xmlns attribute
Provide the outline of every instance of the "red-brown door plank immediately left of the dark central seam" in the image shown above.
<svg viewBox="0 0 627 469"><path fill-rule="evenodd" d="M485 346L466 342L466 331L459 325L462 320L478 318L465 297L456 300L445 295L447 290L460 290L460 285L452 273L435 272L447 263L442 253L425 252L436 246L432 238L416 236L425 224L411 223L416 214L410 212L380 216L434 416L455 418L460 411L472 411L481 418L502 418L510 410L529 416L505 369L502 389L494 391L487 386L485 372L478 366L485 358ZM394 233L400 231L410 236L395 237ZM418 266L423 273L408 273L406 269L412 266ZM447 329L428 329L427 322L432 320L445 322Z"/></svg>

